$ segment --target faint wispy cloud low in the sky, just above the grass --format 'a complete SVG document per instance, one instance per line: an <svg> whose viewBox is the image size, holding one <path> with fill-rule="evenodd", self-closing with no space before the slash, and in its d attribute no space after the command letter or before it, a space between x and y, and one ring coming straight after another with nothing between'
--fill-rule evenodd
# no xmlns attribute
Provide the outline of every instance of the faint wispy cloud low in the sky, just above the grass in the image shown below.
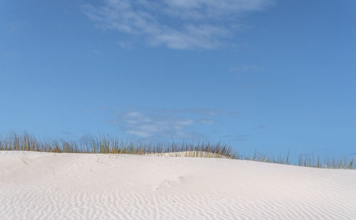
<svg viewBox="0 0 356 220"><path fill-rule="evenodd" d="M220 124L220 116L234 112L221 109L131 109L115 111L108 121L128 136L143 139L206 138L206 128ZM209 129L208 129L209 130Z"/></svg>

